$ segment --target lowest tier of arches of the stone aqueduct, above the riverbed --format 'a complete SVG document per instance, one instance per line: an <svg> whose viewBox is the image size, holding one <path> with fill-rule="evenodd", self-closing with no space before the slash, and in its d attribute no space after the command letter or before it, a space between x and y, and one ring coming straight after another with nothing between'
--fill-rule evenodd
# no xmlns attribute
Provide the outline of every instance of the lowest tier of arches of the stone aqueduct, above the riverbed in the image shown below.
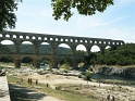
<svg viewBox="0 0 135 101"><path fill-rule="evenodd" d="M74 61L73 58L57 58L56 59L54 56L37 56L37 55L15 55L15 56L12 54L0 55L0 62L14 63L14 65L12 65L14 67L22 67L22 63L28 63L30 64L30 67L35 67L35 68L39 68L41 63L48 64L49 67L59 67L60 61L64 59L68 59L70 60L70 62L72 62L71 64L72 67L77 67L75 58L74 58L75 59ZM47 60L48 62L47 63L42 62L45 60Z"/></svg>

